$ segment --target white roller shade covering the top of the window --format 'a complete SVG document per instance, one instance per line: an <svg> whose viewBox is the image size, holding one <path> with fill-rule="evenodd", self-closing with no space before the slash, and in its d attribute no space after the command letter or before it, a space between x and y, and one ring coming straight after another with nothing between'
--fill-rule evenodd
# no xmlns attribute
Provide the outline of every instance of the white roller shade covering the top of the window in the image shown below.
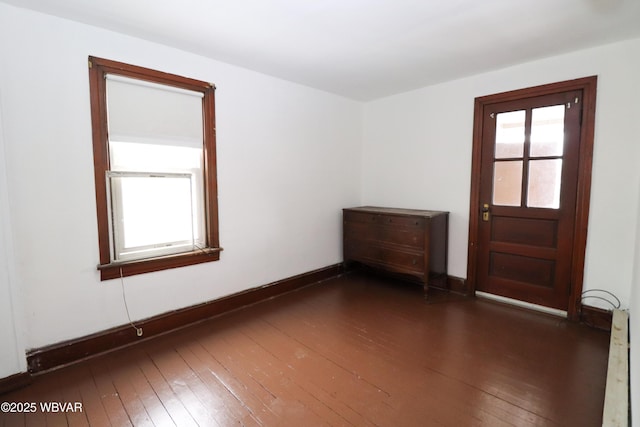
<svg viewBox="0 0 640 427"><path fill-rule="evenodd" d="M109 140L202 148L201 92L107 75Z"/></svg>

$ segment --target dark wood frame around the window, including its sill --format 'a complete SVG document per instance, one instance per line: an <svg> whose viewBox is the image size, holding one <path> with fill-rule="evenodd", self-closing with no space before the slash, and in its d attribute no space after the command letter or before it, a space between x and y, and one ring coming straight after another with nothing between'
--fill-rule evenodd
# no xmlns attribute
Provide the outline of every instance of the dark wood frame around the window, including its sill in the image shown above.
<svg viewBox="0 0 640 427"><path fill-rule="evenodd" d="M112 262L109 232L109 211L105 174L109 165L109 138L107 129L106 74L145 80L174 86L203 94L204 145L203 170L205 193L206 248L175 255L135 261ZM91 122L93 127L93 161L96 186L98 219L98 244L100 249L100 279L166 270L220 259L218 235L218 195L216 172L215 86L213 84L168 74L135 65L89 57L89 84L91 97Z"/></svg>

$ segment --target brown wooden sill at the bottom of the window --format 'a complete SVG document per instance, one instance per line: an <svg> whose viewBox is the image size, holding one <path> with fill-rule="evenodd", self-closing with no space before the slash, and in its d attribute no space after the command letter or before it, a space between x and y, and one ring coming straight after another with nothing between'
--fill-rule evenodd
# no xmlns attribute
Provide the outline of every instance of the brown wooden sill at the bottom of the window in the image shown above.
<svg viewBox="0 0 640 427"><path fill-rule="evenodd" d="M98 270L100 271L100 280L117 279L119 277L151 273L152 271L168 270L170 268L218 261L220 259L220 252L222 252L222 248L208 248L157 258L113 262L98 265Z"/></svg>

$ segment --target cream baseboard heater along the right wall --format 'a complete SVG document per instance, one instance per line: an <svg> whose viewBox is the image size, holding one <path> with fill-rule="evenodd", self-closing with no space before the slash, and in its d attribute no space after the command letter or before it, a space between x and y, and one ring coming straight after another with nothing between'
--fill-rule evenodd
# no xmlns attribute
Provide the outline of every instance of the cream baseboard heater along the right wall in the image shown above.
<svg viewBox="0 0 640 427"><path fill-rule="evenodd" d="M603 427L628 427L629 421L629 313L613 310L609 364L604 394Z"/></svg>

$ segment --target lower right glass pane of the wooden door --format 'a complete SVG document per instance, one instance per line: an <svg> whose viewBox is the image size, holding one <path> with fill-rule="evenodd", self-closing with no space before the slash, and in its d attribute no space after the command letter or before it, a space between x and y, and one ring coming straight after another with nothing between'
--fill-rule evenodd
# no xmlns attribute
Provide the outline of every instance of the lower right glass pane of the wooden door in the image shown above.
<svg viewBox="0 0 640 427"><path fill-rule="evenodd" d="M531 160L527 206L558 209L560 207L560 183L562 159Z"/></svg>

